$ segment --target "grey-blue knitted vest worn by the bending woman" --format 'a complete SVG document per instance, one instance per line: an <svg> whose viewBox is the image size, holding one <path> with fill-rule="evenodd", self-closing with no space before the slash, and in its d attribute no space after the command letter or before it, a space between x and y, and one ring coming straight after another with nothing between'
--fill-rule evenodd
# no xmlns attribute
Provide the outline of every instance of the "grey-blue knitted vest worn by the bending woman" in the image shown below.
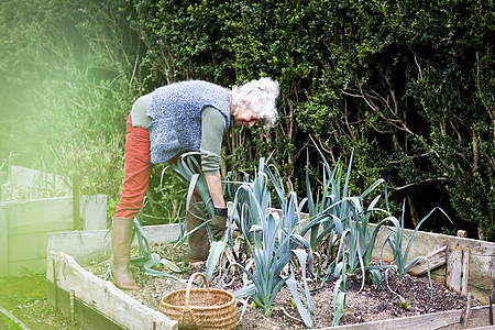
<svg viewBox="0 0 495 330"><path fill-rule="evenodd" d="M153 91L147 116L152 163L164 163L179 153L199 151L201 110L213 107L230 125L230 90L221 86L188 80L170 84Z"/></svg>

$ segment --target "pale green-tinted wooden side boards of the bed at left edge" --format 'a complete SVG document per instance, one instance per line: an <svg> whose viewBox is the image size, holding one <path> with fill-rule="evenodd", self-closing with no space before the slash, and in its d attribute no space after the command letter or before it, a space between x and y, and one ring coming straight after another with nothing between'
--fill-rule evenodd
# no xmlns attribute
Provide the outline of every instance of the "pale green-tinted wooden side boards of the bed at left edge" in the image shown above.
<svg viewBox="0 0 495 330"><path fill-rule="evenodd" d="M81 196L84 228L107 228L107 196ZM0 202L0 277L46 267L48 233L74 228L73 198Z"/></svg>

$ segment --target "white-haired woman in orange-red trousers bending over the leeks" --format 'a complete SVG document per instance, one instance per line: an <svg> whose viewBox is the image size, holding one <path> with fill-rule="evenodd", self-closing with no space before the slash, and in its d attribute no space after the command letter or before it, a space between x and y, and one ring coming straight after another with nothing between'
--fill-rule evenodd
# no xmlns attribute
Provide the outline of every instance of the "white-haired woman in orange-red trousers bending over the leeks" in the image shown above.
<svg viewBox="0 0 495 330"><path fill-rule="evenodd" d="M231 121L252 128L264 120L266 128L273 127L277 119L277 96L278 84L270 78L234 86L232 90L189 80L161 87L134 102L127 123L124 182L112 226L110 268L118 287L140 289L128 266L133 218L143 205L153 164L175 163L184 152L200 152L201 168L215 206L210 230L218 240L227 223L220 177L222 138ZM198 194L194 194L193 201L200 201ZM198 221L194 211L189 213L187 230L193 230ZM190 262L207 260L209 245L206 228L196 230L189 237Z"/></svg>

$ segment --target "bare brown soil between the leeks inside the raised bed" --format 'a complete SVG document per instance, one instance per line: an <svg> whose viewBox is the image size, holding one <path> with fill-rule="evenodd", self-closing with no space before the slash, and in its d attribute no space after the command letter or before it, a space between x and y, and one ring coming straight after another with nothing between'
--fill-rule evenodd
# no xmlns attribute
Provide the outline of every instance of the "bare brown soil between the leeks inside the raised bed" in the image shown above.
<svg viewBox="0 0 495 330"><path fill-rule="evenodd" d="M163 257L172 260L180 265L186 253L186 245L173 248L160 246ZM108 262L90 266L90 271L102 277ZM161 299L167 293L185 289L186 284L176 279L161 276L145 275L142 268L131 266L136 283L142 287L138 292L128 294L152 309L158 310ZM172 273L174 276L188 279L194 273L204 273L205 263L197 263L184 273ZM384 275L384 274L383 274ZM210 286L228 292L234 292L242 286L241 275L238 271L231 271L229 276L218 285L219 276L211 279ZM385 277L384 277L385 278ZM340 324L361 323L385 319L394 319L439 311L464 309L466 298L449 290L442 283L432 280L430 288L427 277L414 277L406 275L399 285L394 270L388 272L388 287L386 282L382 288L375 289L372 284L365 284L361 290L362 278L360 275L348 276L348 301ZM312 321L315 329L331 327L333 320L333 282L327 282L320 289L314 278L309 278L311 301L315 314ZM393 293L395 292L395 293ZM261 308L253 306L250 299L238 300L238 326L235 329L306 329L297 308L293 304L293 297L287 288L282 289L273 304L273 312L270 318L264 316ZM477 300L471 300L471 306L481 306Z"/></svg>

